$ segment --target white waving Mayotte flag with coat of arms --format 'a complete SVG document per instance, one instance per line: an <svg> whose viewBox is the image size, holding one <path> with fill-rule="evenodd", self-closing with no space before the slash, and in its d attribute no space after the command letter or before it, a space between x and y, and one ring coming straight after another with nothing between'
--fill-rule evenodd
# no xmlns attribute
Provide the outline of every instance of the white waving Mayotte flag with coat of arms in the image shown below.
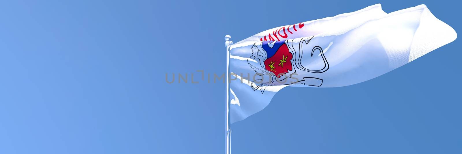
<svg viewBox="0 0 462 154"><path fill-rule="evenodd" d="M456 37L425 5L387 14L377 4L263 31L229 48L231 123L261 111L283 87L371 80Z"/></svg>

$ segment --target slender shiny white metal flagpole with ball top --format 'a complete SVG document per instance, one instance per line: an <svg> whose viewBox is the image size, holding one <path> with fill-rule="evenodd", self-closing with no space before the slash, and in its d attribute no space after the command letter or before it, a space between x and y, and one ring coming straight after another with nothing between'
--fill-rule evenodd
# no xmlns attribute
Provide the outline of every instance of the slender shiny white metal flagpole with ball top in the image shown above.
<svg viewBox="0 0 462 154"><path fill-rule="evenodd" d="M226 154L231 154L231 123L230 123L230 82L229 82L229 73L230 73L230 46L232 44L231 36L225 36L225 46L226 46L226 129L225 129L225 138L226 138Z"/></svg>

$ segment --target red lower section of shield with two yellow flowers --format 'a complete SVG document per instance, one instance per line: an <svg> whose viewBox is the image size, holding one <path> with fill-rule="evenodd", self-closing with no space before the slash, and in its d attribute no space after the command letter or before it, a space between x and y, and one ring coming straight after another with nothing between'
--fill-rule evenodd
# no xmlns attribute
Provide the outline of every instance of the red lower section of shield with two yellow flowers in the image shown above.
<svg viewBox="0 0 462 154"><path fill-rule="evenodd" d="M281 74L292 71L291 61L292 53L289 52L289 48L287 48L287 45L284 43L273 56L265 60L265 69L273 72L279 78Z"/></svg>

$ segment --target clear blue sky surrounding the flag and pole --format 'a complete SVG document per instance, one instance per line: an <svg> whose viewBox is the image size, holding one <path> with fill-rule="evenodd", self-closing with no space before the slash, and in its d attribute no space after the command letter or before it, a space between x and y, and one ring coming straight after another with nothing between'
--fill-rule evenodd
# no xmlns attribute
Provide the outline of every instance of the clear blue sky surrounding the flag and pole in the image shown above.
<svg viewBox="0 0 462 154"><path fill-rule="evenodd" d="M225 84L168 84L166 73L224 73L227 34L237 42L377 3L425 4L461 29L449 0L2 1L0 153L224 153ZM232 151L460 154L460 49L456 39L353 86L285 88L233 123Z"/></svg>

